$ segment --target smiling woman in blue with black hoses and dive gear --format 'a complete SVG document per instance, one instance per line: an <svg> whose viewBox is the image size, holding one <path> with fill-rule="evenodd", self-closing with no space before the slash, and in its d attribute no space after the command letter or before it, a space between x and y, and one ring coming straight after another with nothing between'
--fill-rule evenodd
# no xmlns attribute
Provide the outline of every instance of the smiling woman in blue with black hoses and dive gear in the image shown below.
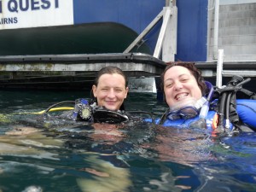
<svg viewBox="0 0 256 192"><path fill-rule="evenodd" d="M218 88L202 78L194 63L169 64L161 75L162 90L169 109L156 122L180 128L207 128L213 134L252 132L255 126L253 120L248 120L251 115L245 117L244 113L255 113L253 105L248 104L255 100L255 93L241 88L249 80L234 76L227 88ZM241 99L236 97L238 90L244 94L242 97L237 94ZM241 112L240 106L246 106L245 111Z"/></svg>

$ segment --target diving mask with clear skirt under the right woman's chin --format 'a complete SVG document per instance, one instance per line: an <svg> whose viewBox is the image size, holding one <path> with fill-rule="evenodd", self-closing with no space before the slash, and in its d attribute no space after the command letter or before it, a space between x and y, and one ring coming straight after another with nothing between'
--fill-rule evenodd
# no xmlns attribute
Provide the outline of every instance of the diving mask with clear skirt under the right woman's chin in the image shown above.
<svg viewBox="0 0 256 192"><path fill-rule="evenodd" d="M176 120L195 118L195 116L200 113L200 109L205 102L207 102L207 99L204 96L197 101L195 101L194 98L191 98L184 102L179 102L175 107L170 109L169 113L167 113L167 119Z"/></svg>

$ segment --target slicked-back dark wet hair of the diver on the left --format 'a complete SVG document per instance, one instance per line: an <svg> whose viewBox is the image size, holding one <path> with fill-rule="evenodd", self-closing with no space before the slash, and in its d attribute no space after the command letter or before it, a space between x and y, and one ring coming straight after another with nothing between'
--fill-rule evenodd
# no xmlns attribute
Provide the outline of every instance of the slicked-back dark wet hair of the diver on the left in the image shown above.
<svg viewBox="0 0 256 192"><path fill-rule="evenodd" d="M126 88L128 86L128 79L127 79L125 73L119 67L113 67L113 66L102 67L102 69L100 71L98 71L98 73L96 75L94 84L96 86L99 84L99 79L103 74L113 74L113 73L118 73L124 77L125 88Z"/></svg>

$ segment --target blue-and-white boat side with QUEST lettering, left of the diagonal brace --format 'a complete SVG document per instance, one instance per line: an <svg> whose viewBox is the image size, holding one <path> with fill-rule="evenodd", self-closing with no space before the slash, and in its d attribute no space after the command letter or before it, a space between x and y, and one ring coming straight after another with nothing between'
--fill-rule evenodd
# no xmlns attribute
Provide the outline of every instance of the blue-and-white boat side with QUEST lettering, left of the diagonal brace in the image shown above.
<svg viewBox="0 0 256 192"><path fill-rule="evenodd" d="M122 53L165 5L165 0L0 1L0 55ZM149 54L150 46L142 43L134 51Z"/></svg>

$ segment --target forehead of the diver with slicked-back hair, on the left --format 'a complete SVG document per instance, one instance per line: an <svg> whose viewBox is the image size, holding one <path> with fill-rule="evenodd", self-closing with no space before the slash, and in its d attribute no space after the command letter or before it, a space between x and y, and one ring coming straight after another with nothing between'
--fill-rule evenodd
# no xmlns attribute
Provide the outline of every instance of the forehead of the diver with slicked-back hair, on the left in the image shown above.
<svg viewBox="0 0 256 192"><path fill-rule="evenodd" d="M101 84L121 84L123 86L125 84L125 78L119 73L105 73L99 78L98 85Z"/></svg>

